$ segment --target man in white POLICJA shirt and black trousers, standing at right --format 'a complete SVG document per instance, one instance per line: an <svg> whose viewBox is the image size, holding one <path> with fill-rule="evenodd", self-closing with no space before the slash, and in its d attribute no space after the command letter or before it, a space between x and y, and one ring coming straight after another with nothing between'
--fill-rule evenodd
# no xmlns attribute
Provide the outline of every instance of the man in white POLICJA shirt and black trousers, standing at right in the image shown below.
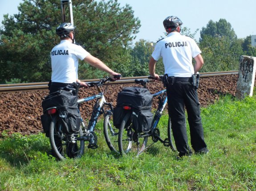
<svg viewBox="0 0 256 191"><path fill-rule="evenodd" d="M167 88L168 113L171 117L171 128L179 152L177 159L192 154L187 140L185 106L190 127L191 146L195 153L207 153L204 141L203 126L196 88L193 86L192 75L203 66L201 51L190 37L181 35L182 21L177 16L168 16L163 21L167 37L157 42L149 62L150 75L155 74L155 64L163 58L165 84ZM195 68L192 65L195 59Z"/></svg>

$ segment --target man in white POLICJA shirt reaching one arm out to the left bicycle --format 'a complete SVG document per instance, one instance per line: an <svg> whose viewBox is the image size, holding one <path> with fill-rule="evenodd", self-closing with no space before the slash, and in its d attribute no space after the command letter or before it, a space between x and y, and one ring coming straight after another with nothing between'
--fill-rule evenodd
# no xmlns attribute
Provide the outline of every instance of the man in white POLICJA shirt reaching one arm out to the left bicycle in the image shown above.
<svg viewBox="0 0 256 191"><path fill-rule="evenodd" d="M111 70L101 60L90 55L84 48L75 44L74 30L75 27L71 23L61 23L56 28L56 33L60 37L61 43L53 47L51 51L52 78L51 83L49 83L50 93L59 90L61 87L72 85L73 82L87 87L85 82L81 82L78 79L77 70L79 59L109 73L113 79L115 79L114 75L120 75Z"/></svg>

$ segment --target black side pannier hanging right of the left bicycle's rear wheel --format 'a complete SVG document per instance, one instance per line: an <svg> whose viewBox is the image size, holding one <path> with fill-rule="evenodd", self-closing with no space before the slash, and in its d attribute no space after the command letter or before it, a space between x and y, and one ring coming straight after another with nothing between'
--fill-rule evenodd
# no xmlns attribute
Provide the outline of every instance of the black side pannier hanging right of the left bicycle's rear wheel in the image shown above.
<svg viewBox="0 0 256 191"><path fill-rule="evenodd" d="M64 133L76 133L80 129L81 115L77 107L64 106L59 109L62 131Z"/></svg>

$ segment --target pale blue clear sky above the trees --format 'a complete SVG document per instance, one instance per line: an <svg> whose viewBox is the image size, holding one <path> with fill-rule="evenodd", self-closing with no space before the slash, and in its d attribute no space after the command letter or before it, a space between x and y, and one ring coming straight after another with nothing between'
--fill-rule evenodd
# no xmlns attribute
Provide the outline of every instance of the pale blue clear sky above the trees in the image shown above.
<svg viewBox="0 0 256 191"><path fill-rule="evenodd" d="M18 6L23 0L0 0L0 25L4 14L9 16L18 13ZM199 40L200 30L207 23L226 19L231 23L238 38L256 35L256 0L118 0L123 7L129 4L134 16L141 21L136 34L137 42L145 39L156 42L164 35L163 20L167 16L178 16L182 27L190 29ZM75 16L74 16L75 17ZM75 23L74 23L75 24Z"/></svg>

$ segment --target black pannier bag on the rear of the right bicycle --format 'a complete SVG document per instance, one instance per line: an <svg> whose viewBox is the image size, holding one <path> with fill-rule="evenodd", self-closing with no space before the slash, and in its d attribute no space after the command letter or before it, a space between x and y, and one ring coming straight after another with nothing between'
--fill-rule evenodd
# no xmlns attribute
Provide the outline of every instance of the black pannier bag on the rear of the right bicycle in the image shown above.
<svg viewBox="0 0 256 191"><path fill-rule="evenodd" d="M118 93L117 97L117 109L123 105L130 105L133 111L132 123L133 128L137 133L148 132L150 131L150 125L153 121L153 114L151 113L153 95L150 94L150 91L142 87L125 87L121 92ZM118 128L118 125L121 125L122 118L124 117L124 109L118 110L115 113L117 116L122 116L119 118L119 121L114 121L115 127ZM115 118L115 117L114 117Z"/></svg>

